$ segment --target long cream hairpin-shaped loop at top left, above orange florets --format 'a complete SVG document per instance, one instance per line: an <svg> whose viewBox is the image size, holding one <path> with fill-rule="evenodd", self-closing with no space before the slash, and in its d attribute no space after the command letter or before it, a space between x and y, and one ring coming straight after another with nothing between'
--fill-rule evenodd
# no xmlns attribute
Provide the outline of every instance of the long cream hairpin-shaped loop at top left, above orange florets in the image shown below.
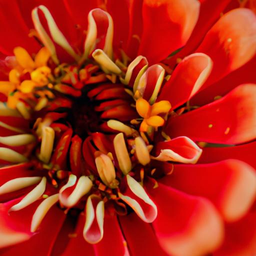
<svg viewBox="0 0 256 256"><path fill-rule="evenodd" d="M50 40L50 38L45 37L45 30L42 27L40 21L39 21L39 17L38 17L38 9L40 9L44 16L45 19L47 21L48 24L48 28L50 31L50 34L53 38L53 40L59 45L61 46L69 55L71 55L76 61L79 60L79 56L74 52L73 48L71 47L71 45L68 43L68 41L66 40L65 36L62 34L62 32L59 30L59 28L57 27L53 17L51 16L49 10L44 6L44 5L39 5L38 7L34 8L32 10L32 17L33 17L33 22L34 22L34 26L36 31L38 32L38 34L41 37L41 40L43 41L43 43L45 44L45 46L48 48L47 45L49 45L48 39ZM46 41L46 43L45 43ZM50 51L52 49L48 48Z"/></svg>

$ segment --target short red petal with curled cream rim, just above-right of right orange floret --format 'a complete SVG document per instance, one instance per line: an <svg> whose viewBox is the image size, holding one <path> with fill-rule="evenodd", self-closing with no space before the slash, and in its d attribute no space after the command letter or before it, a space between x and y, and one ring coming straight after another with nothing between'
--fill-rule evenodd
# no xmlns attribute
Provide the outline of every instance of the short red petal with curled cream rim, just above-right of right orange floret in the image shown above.
<svg viewBox="0 0 256 256"><path fill-rule="evenodd" d="M183 104L200 89L211 69L212 61L203 53L185 57L164 84L159 100L168 100L172 108Z"/></svg>

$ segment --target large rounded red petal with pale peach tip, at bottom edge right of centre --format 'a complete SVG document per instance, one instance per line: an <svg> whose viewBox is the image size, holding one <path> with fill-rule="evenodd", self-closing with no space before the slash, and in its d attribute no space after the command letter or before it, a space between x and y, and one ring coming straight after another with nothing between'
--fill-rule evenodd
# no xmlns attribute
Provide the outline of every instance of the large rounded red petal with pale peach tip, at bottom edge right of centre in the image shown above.
<svg viewBox="0 0 256 256"><path fill-rule="evenodd" d="M204 255L220 245L222 222L208 200L162 184L148 189L159 210L153 227L167 253Z"/></svg>

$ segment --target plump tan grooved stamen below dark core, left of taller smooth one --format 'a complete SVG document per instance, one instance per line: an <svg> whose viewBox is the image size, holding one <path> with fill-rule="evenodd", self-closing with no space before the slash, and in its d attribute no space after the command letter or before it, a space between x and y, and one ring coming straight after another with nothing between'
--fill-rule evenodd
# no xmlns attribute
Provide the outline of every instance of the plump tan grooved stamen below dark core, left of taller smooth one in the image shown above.
<svg viewBox="0 0 256 256"><path fill-rule="evenodd" d="M100 153L99 156L95 158L95 163L99 177L103 183L109 187L116 187L115 180L115 169L112 160L106 154Z"/></svg>

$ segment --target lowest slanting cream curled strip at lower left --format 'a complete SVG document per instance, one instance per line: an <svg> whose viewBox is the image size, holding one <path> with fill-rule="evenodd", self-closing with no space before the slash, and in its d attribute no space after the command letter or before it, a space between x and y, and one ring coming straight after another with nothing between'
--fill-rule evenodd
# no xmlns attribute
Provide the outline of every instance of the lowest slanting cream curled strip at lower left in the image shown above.
<svg viewBox="0 0 256 256"><path fill-rule="evenodd" d="M36 208L32 217L31 227L30 227L31 232L35 232L35 230L40 225L42 219L44 218L44 216L46 215L50 207L57 201L58 201L58 194L53 194L47 197L46 199L44 199L39 204L39 206Z"/></svg>

